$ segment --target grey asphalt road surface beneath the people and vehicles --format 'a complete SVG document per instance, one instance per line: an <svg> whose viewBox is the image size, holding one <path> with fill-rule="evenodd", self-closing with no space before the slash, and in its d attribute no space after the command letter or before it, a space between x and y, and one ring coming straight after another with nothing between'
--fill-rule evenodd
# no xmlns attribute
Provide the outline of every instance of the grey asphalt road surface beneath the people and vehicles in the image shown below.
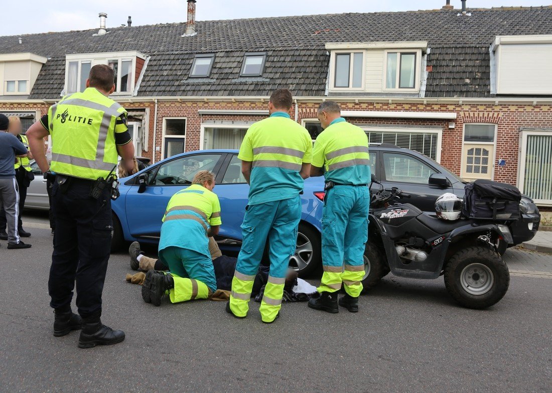
<svg viewBox="0 0 552 393"><path fill-rule="evenodd" d="M454 304L442 278L388 276L357 314L284 304L264 325L255 302L245 320L227 315L224 302L145 304L140 286L125 282L121 253L110 259L103 322L126 340L79 349L78 332L52 336L51 236L43 215L29 220L40 223L27 227L33 248L0 248L0 391L552 390L547 275L512 275L505 298L483 311ZM520 271L529 253L508 253ZM551 255L531 255L537 269L550 266Z"/></svg>

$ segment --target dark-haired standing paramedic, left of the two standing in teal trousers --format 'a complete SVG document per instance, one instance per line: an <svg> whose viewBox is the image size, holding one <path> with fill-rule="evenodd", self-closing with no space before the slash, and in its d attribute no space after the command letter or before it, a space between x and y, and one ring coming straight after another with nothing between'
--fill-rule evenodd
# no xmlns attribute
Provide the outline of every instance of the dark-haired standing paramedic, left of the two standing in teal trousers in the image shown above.
<svg viewBox="0 0 552 393"><path fill-rule="evenodd" d="M289 257L295 251L301 218L303 180L309 177L312 141L291 120L293 97L288 89L270 96L270 117L253 124L240 147L242 173L250 184L242 224L243 242L226 311L245 318L253 281L269 241L270 273L261 302L261 318L271 323L282 306Z"/></svg>

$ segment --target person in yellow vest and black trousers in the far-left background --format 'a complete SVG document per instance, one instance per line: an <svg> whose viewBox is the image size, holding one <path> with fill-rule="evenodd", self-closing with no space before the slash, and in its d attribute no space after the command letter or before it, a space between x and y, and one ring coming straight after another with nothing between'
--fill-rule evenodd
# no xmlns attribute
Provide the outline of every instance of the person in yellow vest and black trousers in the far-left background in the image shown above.
<svg viewBox="0 0 552 393"><path fill-rule="evenodd" d="M8 132L17 136L17 139L23 143L27 149L25 156L18 156L15 158L15 180L17 181L17 188L19 190L19 205L18 205L18 233L19 237L30 237L31 234L23 229L23 221L21 220L21 212L23 206L25 206L25 199L27 197L27 188L30 185L31 178L34 178L29 159L33 159L33 155L29 152L29 141L27 137L22 134L23 127L21 120L17 116L9 116L9 128ZM0 239L7 240L8 235L6 233L6 211L0 209Z"/></svg>

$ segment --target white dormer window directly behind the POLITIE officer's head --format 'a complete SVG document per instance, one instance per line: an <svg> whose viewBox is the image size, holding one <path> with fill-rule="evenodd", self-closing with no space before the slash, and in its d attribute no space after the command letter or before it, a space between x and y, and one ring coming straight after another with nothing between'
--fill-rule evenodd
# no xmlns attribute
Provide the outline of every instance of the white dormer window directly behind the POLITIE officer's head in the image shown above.
<svg viewBox="0 0 552 393"><path fill-rule="evenodd" d="M115 71L115 94L131 94L144 67L146 56L140 52L110 52L67 55L65 93L83 92L93 66L107 64Z"/></svg>

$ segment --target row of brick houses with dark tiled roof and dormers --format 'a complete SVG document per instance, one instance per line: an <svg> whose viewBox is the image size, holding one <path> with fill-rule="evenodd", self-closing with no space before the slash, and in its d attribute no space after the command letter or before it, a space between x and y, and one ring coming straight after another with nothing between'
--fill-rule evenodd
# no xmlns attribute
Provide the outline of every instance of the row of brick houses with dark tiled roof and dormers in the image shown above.
<svg viewBox="0 0 552 393"><path fill-rule="evenodd" d="M516 20L534 23L516 28ZM270 92L288 87L296 99L291 118L307 129L316 128L317 105L332 99L348 121L367 131L370 143L413 148L459 176L516 184L540 205L552 206L552 180L546 178L552 169L543 169L552 168L552 158L544 154L552 146L552 76L544 72L542 80L535 82L531 75L525 80L508 72L527 65L508 68L507 63L521 59L508 50L537 45L532 63L538 71L552 54L551 21L552 7L497 8L470 10L470 16L433 10L207 21L197 23L194 35L183 34L185 24L166 24L114 28L103 36L95 30L27 35L19 45L13 37L2 37L0 76L3 60L7 64L21 57L13 54L49 58L38 75L31 68L30 80L36 82L27 94L8 92L6 71L0 112L38 119L70 91L70 84L78 89L82 75L71 73L71 62L83 67L118 61L121 71L125 61L132 61L132 83L119 76L115 82L121 91L112 98L129 111L129 124L140 126L134 129L140 133L137 155L155 162L174 152L239 146L248 126L268 114ZM398 25L411 31L393 28ZM257 33L233 34L238 30ZM129 38L135 52L128 51ZM87 55L79 60L77 54ZM206 76L193 75L198 55L212 59ZM255 57L262 62L251 65L261 71L250 76L246 63ZM348 61L345 71L338 68L343 59ZM403 69L409 59L412 67ZM342 72L346 80L339 84ZM408 72L412 85L401 89ZM518 77L523 86L516 83ZM184 130L182 135L169 135L171 122ZM481 151L487 156L474 153ZM481 160L486 167L477 167L477 175L471 163ZM535 168L540 172L535 174Z"/></svg>

